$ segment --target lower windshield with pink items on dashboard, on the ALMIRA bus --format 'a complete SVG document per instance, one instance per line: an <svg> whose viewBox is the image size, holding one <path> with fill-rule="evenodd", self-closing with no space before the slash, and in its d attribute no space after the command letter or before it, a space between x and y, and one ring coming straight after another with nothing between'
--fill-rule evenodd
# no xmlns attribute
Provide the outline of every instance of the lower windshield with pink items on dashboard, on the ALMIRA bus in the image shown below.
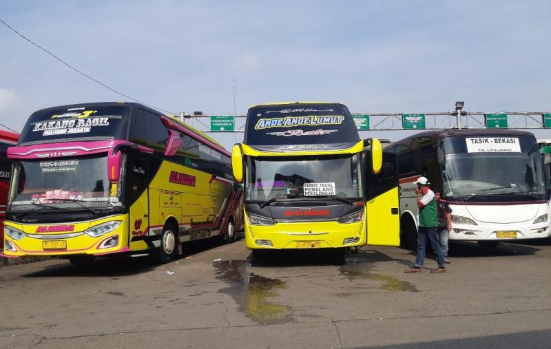
<svg viewBox="0 0 551 349"><path fill-rule="evenodd" d="M8 210L101 209L121 206L107 178L107 158L17 161Z"/></svg>

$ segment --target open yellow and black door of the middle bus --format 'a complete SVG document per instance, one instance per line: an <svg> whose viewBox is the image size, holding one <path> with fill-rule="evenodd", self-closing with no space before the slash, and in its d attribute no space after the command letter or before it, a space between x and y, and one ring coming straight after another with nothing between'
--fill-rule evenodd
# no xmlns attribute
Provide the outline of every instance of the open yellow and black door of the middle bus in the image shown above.
<svg viewBox="0 0 551 349"><path fill-rule="evenodd" d="M367 244L399 246L399 187L396 156L383 154L380 173L371 171L371 156L366 151L366 232Z"/></svg>

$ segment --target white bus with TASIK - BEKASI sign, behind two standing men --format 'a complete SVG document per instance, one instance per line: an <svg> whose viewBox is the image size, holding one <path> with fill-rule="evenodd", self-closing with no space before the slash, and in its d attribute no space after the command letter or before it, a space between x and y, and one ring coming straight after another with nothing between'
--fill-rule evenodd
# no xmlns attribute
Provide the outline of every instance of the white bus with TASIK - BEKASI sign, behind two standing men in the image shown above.
<svg viewBox="0 0 551 349"><path fill-rule="evenodd" d="M415 180L425 176L450 204L450 240L548 237L544 171L534 135L513 130L426 131L388 145L400 184L402 245L417 243ZM395 160L394 160L395 159Z"/></svg>

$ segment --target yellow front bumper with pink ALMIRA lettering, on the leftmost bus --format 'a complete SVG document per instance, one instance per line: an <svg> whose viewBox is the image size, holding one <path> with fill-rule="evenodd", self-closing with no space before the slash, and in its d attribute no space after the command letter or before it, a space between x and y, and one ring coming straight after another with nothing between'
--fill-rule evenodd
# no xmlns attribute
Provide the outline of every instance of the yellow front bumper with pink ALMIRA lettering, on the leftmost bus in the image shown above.
<svg viewBox="0 0 551 349"><path fill-rule="evenodd" d="M112 231L92 237L87 229L108 222L120 222ZM128 248L127 215L116 215L87 222L68 224L19 224L6 221L6 226L23 231L24 237L4 239L6 257L25 255L107 255L122 253Z"/></svg>

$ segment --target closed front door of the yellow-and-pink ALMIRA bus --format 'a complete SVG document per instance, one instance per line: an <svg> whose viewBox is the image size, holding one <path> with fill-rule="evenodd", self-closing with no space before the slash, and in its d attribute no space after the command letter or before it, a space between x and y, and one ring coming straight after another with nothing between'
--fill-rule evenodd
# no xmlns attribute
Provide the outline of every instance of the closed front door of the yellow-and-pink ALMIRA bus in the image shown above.
<svg viewBox="0 0 551 349"><path fill-rule="evenodd" d="M127 202L129 207L129 248L131 251L152 248L149 242L149 181L151 174L147 160L141 156L128 154ZM161 227L162 228L162 227Z"/></svg>

